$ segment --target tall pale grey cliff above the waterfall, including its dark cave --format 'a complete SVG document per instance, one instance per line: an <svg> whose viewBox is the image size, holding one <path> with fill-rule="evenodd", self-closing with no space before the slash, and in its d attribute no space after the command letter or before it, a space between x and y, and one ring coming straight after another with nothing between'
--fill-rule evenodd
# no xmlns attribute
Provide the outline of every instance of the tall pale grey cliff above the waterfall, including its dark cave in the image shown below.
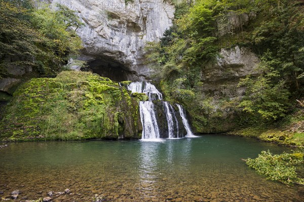
<svg viewBox="0 0 304 202"><path fill-rule="evenodd" d="M85 26L77 30L85 49L80 60L112 80L146 80L147 41L159 40L172 25L174 7L163 0L55 0L76 11Z"/></svg>

